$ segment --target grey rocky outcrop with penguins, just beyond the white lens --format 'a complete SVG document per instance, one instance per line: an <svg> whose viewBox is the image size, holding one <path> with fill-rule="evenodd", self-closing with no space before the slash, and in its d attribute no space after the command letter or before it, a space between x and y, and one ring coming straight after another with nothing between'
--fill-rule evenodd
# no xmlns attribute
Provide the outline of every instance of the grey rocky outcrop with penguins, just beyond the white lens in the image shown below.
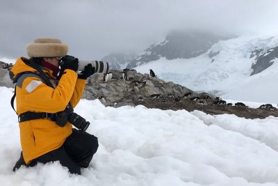
<svg viewBox="0 0 278 186"><path fill-rule="evenodd" d="M83 93L83 98L99 99L105 105L116 105L120 102L132 103L137 100L163 96L183 98L186 93L198 95L185 86L149 77L148 74L142 75L136 70L112 70L112 77L108 82L105 82L105 76L104 74L92 75Z"/></svg>

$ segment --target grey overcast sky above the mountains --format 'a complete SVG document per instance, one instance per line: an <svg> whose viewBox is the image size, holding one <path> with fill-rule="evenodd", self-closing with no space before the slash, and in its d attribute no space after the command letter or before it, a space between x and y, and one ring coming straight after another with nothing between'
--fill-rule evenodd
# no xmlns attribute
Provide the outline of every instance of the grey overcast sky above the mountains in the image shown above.
<svg viewBox="0 0 278 186"><path fill-rule="evenodd" d="M26 0L0 2L0 57L26 56L41 36L79 59L142 52L175 29L278 33L278 0Z"/></svg>

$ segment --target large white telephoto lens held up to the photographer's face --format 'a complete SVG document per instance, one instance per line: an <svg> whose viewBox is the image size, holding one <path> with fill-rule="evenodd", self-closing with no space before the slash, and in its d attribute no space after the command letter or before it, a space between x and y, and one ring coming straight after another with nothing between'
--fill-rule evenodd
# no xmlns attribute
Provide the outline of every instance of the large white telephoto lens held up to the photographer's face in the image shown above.
<svg viewBox="0 0 278 186"><path fill-rule="evenodd" d="M92 64L93 68L95 67L95 73L107 73L109 70L109 64L104 61L79 60L79 71L83 71L88 64Z"/></svg>

